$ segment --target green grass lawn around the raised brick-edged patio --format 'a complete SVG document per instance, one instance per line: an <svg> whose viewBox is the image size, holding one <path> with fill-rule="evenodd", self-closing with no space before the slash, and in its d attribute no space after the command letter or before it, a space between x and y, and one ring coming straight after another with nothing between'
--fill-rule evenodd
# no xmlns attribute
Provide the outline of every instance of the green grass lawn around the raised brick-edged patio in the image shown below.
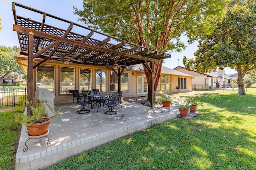
<svg viewBox="0 0 256 170"><path fill-rule="evenodd" d="M130 134L48 169L256 170L256 86L247 89L247 96L236 93L237 90L214 90L175 94L179 100L198 96L203 102L198 107L200 115L189 120L173 119ZM3 141L2 134L0 140ZM0 156L2 162L10 154Z"/></svg>

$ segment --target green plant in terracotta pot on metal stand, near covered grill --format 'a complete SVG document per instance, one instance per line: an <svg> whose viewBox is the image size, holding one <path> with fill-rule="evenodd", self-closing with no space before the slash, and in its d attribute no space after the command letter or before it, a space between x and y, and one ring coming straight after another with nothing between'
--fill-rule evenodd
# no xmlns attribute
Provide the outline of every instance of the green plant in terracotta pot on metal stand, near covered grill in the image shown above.
<svg viewBox="0 0 256 170"><path fill-rule="evenodd" d="M44 117L46 110L42 102L39 106L32 106L32 102L26 102L27 106L32 110L32 115L29 116L28 113L19 113L15 116L15 120L19 124L24 124L28 128L28 133L30 136L44 135L48 131L48 126L50 123L50 117Z"/></svg>

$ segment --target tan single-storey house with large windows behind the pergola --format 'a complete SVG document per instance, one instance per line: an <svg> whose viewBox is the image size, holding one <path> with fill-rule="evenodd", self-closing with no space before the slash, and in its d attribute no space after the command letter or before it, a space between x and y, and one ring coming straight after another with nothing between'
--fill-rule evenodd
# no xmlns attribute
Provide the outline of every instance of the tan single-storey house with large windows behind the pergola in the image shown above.
<svg viewBox="0 0 256 170"><path fill-rule="evenodd" d="M27 57L15 57L24 71L27 70ZM34 60L34 64L39 61ZM70 63L65 65L60 61L46 61L34 69L34 86L47 88L54 93L54 103L68 103L73 101L70 90L99 89L106 94L115 93L118 90L117 76L108 66L92 66ZM176 86L181 92L192 91L192 78L177 70L162 66L161 79L158 90L164 93L177 92ZM142 64L127 66L121 76L122 96L146 96L148 84Z"/></svg>

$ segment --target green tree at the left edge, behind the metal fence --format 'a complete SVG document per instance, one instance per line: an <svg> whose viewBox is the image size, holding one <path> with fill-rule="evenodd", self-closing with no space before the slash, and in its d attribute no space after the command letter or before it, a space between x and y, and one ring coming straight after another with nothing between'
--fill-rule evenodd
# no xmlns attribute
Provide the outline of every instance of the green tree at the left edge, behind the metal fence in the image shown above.
<svg viewBox="0 0 256 170"><path fill-rule="evenodd" d="M19 55L16 52L17 47L0 46L0 81L8 74L14 72L23 74L20 64L16 63L14 56Z"/></svg>

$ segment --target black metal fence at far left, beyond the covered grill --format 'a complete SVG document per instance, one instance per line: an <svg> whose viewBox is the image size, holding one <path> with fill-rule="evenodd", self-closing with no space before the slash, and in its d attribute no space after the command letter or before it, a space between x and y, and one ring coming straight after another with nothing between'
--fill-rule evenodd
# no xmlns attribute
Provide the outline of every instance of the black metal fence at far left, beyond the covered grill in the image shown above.
<svg viewBox="0 0 256 170"><path fill-rule="evenodd" d="M15 107L23 105L27 100L26 89L13 89L0 91L0 107Z"/></svg>

